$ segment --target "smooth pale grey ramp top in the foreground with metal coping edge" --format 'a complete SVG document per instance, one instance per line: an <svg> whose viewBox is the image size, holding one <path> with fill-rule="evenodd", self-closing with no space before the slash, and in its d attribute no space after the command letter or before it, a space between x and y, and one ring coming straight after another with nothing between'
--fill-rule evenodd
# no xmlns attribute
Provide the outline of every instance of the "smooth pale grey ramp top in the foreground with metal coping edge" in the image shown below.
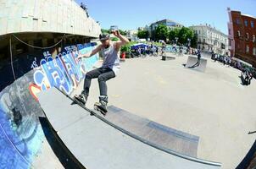
<svg viewBox="0 0 256 169"><path fill-rule="evenodd" d="M92 116L90 110L73 104L68 95L57 89L43 91L38 96L58 139L86 168L210 169L221 166L175 154L110 123L105 117Z"/></svg>

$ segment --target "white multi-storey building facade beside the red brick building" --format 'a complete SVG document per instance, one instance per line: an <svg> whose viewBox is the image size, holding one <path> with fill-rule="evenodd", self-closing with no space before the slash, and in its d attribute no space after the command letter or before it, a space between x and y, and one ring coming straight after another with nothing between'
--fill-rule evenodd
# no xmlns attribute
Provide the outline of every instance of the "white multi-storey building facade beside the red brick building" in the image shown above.
<svg viewBox="0 0 256 169"><path fill-rule="evenodd" d="M210 25L190 26L198 35L198 49L214 52L220 55L230 55L228 50L228 36Z"/></svg>

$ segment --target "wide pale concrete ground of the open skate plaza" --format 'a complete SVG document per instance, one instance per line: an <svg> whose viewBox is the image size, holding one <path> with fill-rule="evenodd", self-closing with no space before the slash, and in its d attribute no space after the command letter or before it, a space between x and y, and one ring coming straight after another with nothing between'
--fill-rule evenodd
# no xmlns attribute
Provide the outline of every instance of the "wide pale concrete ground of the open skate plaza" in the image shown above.
<svg viewBox="0 0 256 169"><path fill-rule="evenodd" d="M186 59L126 59L120 74L108 81L109 105L198 135L198 158L235 168L255 140L255 134L248 132L256 130L256 81L243 86L240 71L211 59L205 73L184 68ZM74 94L81 92L82 85ZM94 79L88 107L98 95Z"/></svg>

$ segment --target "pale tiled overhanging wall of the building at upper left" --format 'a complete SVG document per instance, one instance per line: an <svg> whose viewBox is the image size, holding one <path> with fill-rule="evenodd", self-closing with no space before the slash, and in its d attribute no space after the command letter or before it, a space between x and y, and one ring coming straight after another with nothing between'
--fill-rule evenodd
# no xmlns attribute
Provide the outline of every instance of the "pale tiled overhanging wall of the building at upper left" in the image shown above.
<svg viewBox="0 0 256 169"><path fill-rule="evenodd" d="M58 32L97 37L100 26L74 0L0 0L0 35Z"/></svg>

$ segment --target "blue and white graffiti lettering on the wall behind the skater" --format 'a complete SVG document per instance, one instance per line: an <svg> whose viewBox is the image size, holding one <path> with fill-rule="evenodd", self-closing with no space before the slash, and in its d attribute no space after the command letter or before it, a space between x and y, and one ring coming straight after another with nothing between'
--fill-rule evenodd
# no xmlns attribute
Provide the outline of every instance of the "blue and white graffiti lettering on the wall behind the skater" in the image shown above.
<svg viewBox="0 0 256 169"><path fill-rule="evenodd" d="M75 47L67 47L67 52L58 54L55 59L44 53L45 58L41 60L41 67L35 68L34 82L41 87L41 90L56 86L65 93L70 94L77 87L81 79L85 77L87 71L92 69L94 63L98 60L98 55L77 61L78 53L92 51L94 46L91 43L79 46L80 51Z"/></svg>

